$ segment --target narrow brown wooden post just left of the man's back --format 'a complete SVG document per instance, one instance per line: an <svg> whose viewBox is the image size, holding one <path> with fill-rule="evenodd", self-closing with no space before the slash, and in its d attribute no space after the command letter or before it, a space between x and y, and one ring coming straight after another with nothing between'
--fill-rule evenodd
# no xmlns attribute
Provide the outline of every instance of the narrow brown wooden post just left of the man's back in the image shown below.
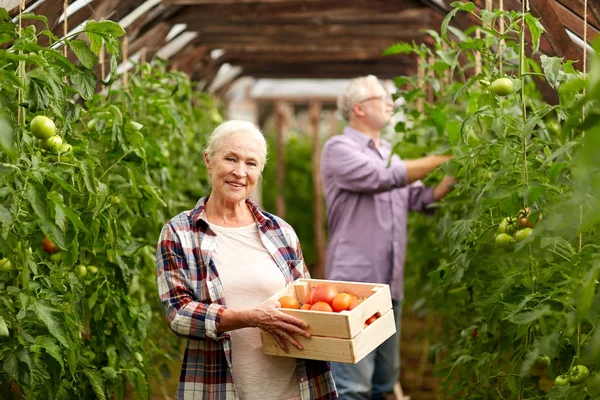
<svg viewBox="0 0 600 400"><path fill-rule="evenodd" d="M325 279L325 228L323 227L323 185L321 180L321 103L311 101L308 111L310 130L313 144L312 174L313 174L313 214L315 231L315 249L317 264L312 276L315 279Z"/></svg>

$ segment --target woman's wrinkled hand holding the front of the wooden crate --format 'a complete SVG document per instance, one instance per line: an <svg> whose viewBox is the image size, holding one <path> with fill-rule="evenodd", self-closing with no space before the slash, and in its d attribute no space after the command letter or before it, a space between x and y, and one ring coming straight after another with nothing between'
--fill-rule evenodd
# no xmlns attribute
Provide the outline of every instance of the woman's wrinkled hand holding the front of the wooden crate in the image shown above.
<svg viewBox="0 0 600 400"><path fill-rule="evenodd" d="M280 306L281 304L277 300L267 300L260 304L250 312L250 325L270 333L286 353L289 352L287 342L302 350L302 345L293 335L310 338L310 333L306 331L308 324L299 318L281 312L278 308Z"/></svg>

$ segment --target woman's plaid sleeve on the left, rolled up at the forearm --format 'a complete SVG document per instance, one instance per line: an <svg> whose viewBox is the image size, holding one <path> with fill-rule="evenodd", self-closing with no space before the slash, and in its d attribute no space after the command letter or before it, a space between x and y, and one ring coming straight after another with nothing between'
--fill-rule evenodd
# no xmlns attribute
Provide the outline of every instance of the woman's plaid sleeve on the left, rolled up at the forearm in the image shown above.
<svg viewBox="0 0 600 400"><path fill-rule="evenodd" d="M217 334L225 306L199 302L194 297L185 251L169 224L163 227L156 249L156 276L167 321L176 335L213 340L225 337Z"/></svg>

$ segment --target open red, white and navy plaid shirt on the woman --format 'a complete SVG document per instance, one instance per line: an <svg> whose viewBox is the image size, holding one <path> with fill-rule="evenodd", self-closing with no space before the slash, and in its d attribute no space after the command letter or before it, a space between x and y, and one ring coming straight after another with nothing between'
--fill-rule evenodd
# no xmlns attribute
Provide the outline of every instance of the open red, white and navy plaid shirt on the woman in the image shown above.
<svg viewBox="0 0 600 400"><path fill-rule="evenodd" d="M206 200L184 211L162 229L156 250L160 300L169 326L187 339L177 399L239 399L231 374L231 338L217 333L226 308L223 285L212 260L216 234L208 227ZM285 221L246 200L258 225L261 240L286 284L309 278L300 242ZM302 400L337 398L329 365L298 359L296 367Z"/></svg>

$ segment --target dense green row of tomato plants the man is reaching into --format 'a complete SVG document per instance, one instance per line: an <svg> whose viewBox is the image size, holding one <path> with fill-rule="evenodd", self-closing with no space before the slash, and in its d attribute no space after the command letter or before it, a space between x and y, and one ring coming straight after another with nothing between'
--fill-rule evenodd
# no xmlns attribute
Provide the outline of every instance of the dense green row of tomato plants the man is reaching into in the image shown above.
<svg viewBox="0 0 600 400"><path fill-rule="evenodd" d="M394 152L452 153L425 184L445 174L459 181L434 218L410 217L405 301L432 321L441 397L597 398L592 379L571 385L560 374L600 366L600 58L590 56L583 79L572 61L527 56L544 32L534 16L453 7L441 32L428 32L431 47L389 50L413 54L423 70L396 79L405 105L389 136ZM450 25L458 13L481 23L480 37ZM557 103L544 100L534 76L557 89ZM512 88L492 90L501 77ZM553 360L542 377L532 372L540 355ZM556 388L540 384L555 378Z"/></svg>

